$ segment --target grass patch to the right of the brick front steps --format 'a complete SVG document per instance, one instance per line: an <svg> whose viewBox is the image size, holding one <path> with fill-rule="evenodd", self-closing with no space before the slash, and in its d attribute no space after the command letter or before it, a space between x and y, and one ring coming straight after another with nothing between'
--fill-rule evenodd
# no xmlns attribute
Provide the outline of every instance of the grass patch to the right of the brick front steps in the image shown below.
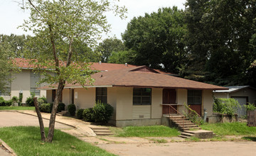
<svg viewBox="0 0 256 156"><path fill-rule="evenodd" d="M211 123L203 124L203 130L213 130L216 135L256 135L256 127L248 127L247 123Z"/></svg>

